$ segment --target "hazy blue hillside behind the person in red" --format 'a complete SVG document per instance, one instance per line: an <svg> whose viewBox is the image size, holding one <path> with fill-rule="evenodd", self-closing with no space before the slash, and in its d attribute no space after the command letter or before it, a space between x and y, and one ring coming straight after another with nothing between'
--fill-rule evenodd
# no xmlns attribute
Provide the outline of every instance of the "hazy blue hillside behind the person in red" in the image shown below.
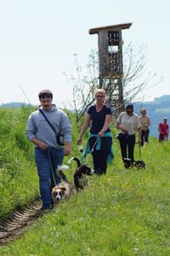
<svg viewBox="0 0 170 256"><path fill-rule="evenodd" d="M163 121L163 117L167 117L167 123L170 125L170 95L163 95L155 98L153 101L136 102L134 104L135 111L139 114L139 109L145 108L150 117L150 135L158 137L158 125Z"/></svg>

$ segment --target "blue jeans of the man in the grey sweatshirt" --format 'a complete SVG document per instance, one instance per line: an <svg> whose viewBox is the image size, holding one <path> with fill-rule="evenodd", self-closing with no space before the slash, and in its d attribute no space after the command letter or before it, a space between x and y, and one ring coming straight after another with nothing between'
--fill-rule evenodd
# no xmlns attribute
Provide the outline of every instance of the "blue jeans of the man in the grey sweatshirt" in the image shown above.
<svg viewBox="0 0 170 256"><path fill-rule="evenodd" d="M54 175L51 173L50 162ZM56 184L59 184L60 178L56 174L56 168L63 162L64 150L49 149L42 151L39 147L35 148L35 158L37 163L37 173L39 176L39 188L42 197L42 208L49 208L53 204L51 191ZM55 178L55 182L54 182Z"/></svg>

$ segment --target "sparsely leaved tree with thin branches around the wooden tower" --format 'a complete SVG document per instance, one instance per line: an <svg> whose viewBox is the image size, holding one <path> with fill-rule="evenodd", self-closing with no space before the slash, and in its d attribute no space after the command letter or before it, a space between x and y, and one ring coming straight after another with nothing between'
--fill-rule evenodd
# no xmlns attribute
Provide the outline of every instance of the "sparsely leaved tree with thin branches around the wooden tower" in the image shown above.
<svg viewBox="0 0 170 256"><path fill-rule="evenodd" d="M144 88L155 86L156 73L151 74L146 68L144 45L135 52L129 43L123 52L123 76L121 79L103 79L102 88L107 97L106 104L111 105L114 115L118 115L129 102L144 100ZM98 53L92 50L88 56L87 75L82 73L82 67L75 54L76 77L71 76L73 102L71 109L75 111L77 122L94 103L94 91L99 88ZM156 82L155 82L156 81ZM120 89L121 88L121 89Z"/></svg>

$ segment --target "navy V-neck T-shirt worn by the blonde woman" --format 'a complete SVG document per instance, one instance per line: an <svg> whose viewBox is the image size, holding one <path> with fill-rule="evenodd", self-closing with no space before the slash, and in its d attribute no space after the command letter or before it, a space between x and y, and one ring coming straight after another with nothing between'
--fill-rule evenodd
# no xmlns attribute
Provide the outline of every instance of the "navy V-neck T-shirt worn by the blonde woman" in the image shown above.
<svg viewBox="0 0 170 256"><path fill-rule="evenodd" d="M98 134L99 131L103 128L105 123L105 116L112 115L111 107L104 105L101 111L96 111L96 105L92 105L88 109L88 114L91 116L92 125L90 128L90 134ZM108 128L105 133L111 132L111 129Z"/></svg>

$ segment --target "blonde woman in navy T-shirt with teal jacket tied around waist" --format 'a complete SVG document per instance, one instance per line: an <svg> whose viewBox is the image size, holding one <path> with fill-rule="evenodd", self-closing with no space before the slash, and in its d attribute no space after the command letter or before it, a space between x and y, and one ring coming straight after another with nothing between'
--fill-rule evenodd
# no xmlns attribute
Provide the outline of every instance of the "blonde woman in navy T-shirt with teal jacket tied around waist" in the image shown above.
<svg viewBox="0 0 170 256"><path fill-rule="evenodd" d="M111 129L111 108L104 104L105 90L99 88L95 91L96 105L92 105L88 109L87 116L82 124L81 133L78 138L78 143L82 143L82 136L90 126L89 149L92 151L94 170L96 174L105 174L107 169L108 156L111 153L112 138ZM98 140L96 142L96 139ZM98 142L101 144L98 145Z"/></svg>

